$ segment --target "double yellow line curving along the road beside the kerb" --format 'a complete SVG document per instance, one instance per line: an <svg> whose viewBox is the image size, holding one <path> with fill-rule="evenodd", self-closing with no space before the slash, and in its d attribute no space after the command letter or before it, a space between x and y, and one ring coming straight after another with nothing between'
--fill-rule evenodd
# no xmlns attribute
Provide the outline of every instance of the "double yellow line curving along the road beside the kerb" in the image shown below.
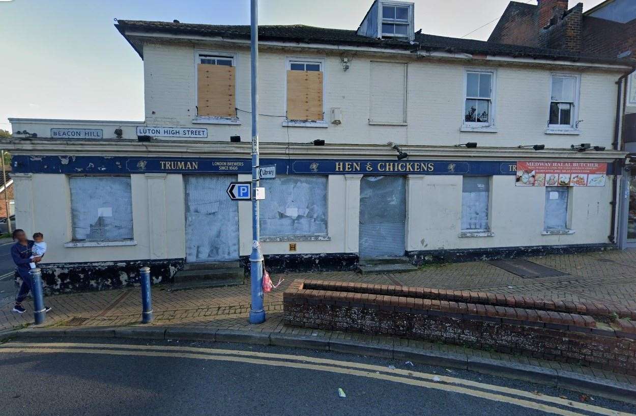
<svg viewBox="0 0 636 416"><path fill-rule="evenodd" d="M427 389L466 394L476 398L501 401L511 405L541 410L563 416L588 416L596 413L604 416L636 416L633 413L618 412L579 403L560 397L546 396L533 392L511 389L499 385L491 385L463 378L448 377L418 371L391 369L373 364L354 363L308 356L288 354L270 354L242 350L226 350L198 347L177 347L172 345L122 345L101 343L6 343L0 347L0 353L34 353L34 354L107 354L113 356L144 357L177 357L189 359L205 359L214 361L233 361L268 366L298 368L302 370L328 371L345 375L375 378ZM579 413L577 411L586 413Z"/></svg>

